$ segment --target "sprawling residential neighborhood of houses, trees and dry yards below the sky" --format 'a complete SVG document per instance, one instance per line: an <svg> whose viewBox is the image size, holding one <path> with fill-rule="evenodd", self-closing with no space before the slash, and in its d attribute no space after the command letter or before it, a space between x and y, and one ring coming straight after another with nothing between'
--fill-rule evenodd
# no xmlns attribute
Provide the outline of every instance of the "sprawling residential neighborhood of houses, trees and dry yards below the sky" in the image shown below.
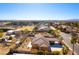
<svg viewBox="0 0 79 59"><path fill-rule="evenodd" d="M77 23L0 21L0 55L79 55Z"/></svg>

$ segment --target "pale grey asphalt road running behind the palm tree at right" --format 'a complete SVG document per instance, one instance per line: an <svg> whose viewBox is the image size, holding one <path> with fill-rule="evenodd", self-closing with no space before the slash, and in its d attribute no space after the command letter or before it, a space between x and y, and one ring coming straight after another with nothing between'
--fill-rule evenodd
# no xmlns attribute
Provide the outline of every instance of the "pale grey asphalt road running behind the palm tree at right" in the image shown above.
<svg viewBox="0 0 79 59"><path fill-rule="evenodd" d="M67 44L67 46L72 49L73 47L72 47L72 44L70 42L71 34L66 34L66 33L61 32L60 35L64 38L64 42ZM74 51L77 55L79 55L79 45L78 44L75 44Z"/></svg>

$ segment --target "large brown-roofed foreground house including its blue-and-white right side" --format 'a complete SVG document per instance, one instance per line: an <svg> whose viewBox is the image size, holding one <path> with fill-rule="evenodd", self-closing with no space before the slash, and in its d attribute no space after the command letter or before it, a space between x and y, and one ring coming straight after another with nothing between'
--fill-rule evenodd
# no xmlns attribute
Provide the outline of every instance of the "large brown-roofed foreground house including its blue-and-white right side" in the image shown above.
<svg viewBox="0 0 79 59"><path fill-rule="evenodd" d="M57 44L55 44L56 42ZM62 50L62 47L59 48L59 46L62 46L60 40L54 37L45 37L44 35L39 33L32 38L32 49L41 49L48 51L55 51L55 49L57 51Z"/></svg>

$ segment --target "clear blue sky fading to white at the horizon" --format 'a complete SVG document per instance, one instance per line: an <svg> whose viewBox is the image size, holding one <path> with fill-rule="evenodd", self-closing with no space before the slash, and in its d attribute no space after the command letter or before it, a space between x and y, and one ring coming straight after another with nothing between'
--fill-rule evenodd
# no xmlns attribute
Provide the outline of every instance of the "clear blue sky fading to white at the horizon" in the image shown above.
<svg viewBox="0 0 79 59"><path fill-rule="evenodd" d="M0 3L0 20L79 19L79 3Z"/></svg>

